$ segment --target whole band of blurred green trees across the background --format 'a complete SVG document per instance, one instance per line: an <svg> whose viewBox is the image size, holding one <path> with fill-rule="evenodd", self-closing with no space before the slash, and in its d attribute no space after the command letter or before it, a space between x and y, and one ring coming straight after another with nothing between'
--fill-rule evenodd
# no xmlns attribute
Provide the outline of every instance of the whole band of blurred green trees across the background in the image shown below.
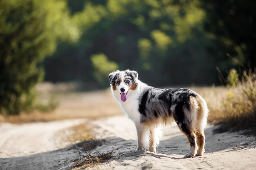
<svg viewBox="0 0 256 170"><path fill-rule="evenodd" d="M218 85L216 67L256 67L255 4L0 0L0 112L32 105L42 68L46 81L86 90L107 87L116 68L136 70L153 86Z"/></svg>

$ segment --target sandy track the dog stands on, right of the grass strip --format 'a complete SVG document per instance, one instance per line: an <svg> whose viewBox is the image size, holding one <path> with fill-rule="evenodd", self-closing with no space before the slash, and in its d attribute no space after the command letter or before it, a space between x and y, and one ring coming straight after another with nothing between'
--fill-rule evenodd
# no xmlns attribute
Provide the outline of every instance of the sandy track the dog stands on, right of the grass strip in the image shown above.
<svg viewBox="0 0 256 170"><path fill-rule="evenodd" d="M124 116L116 116L104 121L94 122L99 126L99 136L111 136L105 145L98 149L111 148L120 154L118 160L98 166L98 169L125 170L255 170L256 140L239 133L214 134L216 127L208 126L206 134L206 153L204 156L183 158L189 150L189 142L177 127L163 128L163 137L157 153L134 151L137 147L136 130L133 122ZM102 131L103 130L103 131ZM108 132L108 133L107 133ZM93 167L91 169L97 169Z"/></svg>

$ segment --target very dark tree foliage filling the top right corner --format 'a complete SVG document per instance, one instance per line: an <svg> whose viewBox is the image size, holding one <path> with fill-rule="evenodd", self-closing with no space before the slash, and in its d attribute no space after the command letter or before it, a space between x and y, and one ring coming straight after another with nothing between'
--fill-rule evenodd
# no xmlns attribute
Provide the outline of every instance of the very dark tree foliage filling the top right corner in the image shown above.
<svg viewBox="0 0 256 170"><path fill-rule="evenodd" d="M256 1L201 0L205 29L225 46L236 65L256 68Z"/></svg>

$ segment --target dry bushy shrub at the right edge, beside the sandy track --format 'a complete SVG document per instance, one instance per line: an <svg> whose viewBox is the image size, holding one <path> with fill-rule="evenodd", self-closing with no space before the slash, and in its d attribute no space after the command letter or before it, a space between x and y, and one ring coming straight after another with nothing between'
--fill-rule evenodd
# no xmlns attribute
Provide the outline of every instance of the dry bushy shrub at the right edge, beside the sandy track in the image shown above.
<svg viewBox="0 0 256 170"><path fill-rule="evenodd" d="M232 71L232 74L236 75L236 72ZM222 113L223 121L233 127L234 130L255 129L256 74L244 72L242 80L237 82L236 91L229 92L223 100Z"/></svg>

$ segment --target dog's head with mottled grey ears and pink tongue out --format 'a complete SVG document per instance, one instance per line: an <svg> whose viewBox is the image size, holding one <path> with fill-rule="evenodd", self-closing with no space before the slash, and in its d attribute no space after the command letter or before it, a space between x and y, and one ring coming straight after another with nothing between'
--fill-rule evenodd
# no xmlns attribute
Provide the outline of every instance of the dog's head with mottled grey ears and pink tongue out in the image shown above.
<svg viewBox="0 0 256 170"><path fill-rule="evenodd" d="M120 93L120 98L122 102L127 99L128 92L130 90L134 91L137 88L137 71L113 71L108 75L109 82L113 91L118 91Z"/></svg>

